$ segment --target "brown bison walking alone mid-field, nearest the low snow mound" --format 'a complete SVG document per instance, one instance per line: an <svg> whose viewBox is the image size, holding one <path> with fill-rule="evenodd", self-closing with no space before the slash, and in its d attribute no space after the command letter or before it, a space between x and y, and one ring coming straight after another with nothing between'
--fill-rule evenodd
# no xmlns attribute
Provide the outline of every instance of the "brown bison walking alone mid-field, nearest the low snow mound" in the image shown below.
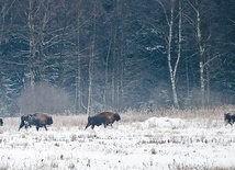
<svg viewBox="0 0 235 170"><path fill-rule="evenodd" d="M100 126L103 124L104 127L107 127L108 125L111 125L115 122L115 121L120 121L121 117L118 113L113 113L113 112L102 112L98 115L94 116L89 116L88 117L88 124L85 127L85 129L87 129L89 126L91 126L91 128L93 128L96 125Z"/></svg>

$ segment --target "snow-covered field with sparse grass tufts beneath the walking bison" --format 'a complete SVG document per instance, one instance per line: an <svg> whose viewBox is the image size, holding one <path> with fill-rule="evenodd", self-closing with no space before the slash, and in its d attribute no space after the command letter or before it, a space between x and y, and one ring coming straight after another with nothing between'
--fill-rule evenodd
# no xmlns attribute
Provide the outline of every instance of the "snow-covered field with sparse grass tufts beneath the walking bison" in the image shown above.
<svg viewBox="0 0 235 170"><path fill-rule="evenodd" d="M235 169L235 127L223 120L152 116L83 131L85 117L69 118L79 116L56 117L47 132L18 132L20 117L5 118L0 170Z"/></svg>

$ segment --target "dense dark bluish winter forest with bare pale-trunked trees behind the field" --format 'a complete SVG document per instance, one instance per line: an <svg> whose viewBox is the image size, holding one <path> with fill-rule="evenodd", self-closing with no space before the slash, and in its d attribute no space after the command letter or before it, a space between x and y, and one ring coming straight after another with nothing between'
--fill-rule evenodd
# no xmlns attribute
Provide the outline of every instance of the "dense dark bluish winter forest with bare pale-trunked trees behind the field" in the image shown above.
<svg viewBox="0 0 235 170"><path fill-rule="evenodd" d="M234 0L1 0L0 114L235 104Z"/></svg>

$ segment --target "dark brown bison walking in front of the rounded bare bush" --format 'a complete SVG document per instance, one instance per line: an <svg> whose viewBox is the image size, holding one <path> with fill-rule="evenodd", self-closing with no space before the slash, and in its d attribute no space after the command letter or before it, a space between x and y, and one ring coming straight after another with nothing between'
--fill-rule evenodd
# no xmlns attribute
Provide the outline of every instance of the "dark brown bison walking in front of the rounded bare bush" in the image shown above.
<svg viewBox="0 0 235 170"><path fill-rule="evenodd" d="M29 115L22 115L21 116L21 124L19 127L19 131L24 126L26 129L31 125L36 126L36 131L40 129L40 127L45 127L47 131L46 125L53 124L53 117L48 115L47 113L34 113Z"/></svg>

